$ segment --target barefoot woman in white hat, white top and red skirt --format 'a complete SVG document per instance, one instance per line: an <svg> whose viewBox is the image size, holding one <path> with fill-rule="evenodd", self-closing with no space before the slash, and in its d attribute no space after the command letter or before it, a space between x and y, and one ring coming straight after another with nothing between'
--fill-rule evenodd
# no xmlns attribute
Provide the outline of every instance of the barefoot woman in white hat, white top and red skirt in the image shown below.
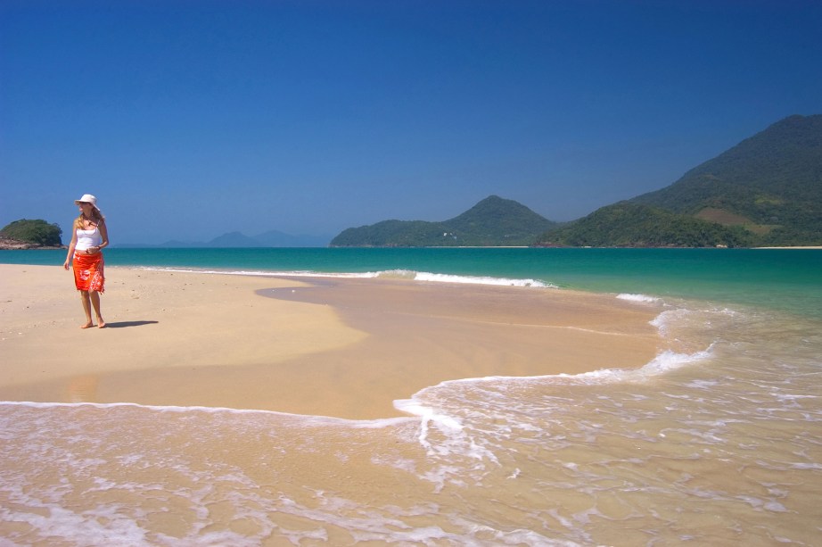
<svg viewBox="0 0 822 547"><path fill-rule="evenodd" d="M74 284L80 292L80 301L86 312L86 323L80 328L95 326L91 319L93 307L97 327L103 328L105 321L100 314L100 293L105 292L105 278L101 251L109 244L109 233L105 228L105 217L97 209L97 198L94 195L83 195L74 204L80 208L80 216L74 220L69 253L62 267L69 269L69 263L73 260Z"/></svg>

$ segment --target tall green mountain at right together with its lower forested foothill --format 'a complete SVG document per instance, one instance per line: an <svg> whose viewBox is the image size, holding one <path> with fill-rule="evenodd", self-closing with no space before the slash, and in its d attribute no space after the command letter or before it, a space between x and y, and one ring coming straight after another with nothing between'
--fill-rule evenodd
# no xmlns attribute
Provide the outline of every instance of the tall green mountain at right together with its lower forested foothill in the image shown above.
<svg viewBox="0 0 822 547"><path fill-rule="evenodd" d="M674 184L603 207L537 244L822 244L822 115L778 121Z"/></svg>

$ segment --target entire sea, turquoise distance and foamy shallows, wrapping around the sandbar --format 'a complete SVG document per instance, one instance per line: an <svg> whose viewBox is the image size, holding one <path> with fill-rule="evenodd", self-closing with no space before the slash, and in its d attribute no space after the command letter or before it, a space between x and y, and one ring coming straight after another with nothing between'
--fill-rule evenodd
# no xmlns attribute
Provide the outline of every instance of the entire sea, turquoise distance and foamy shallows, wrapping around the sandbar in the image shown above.
<svg viewBox="0 0 822 547"><path fill-rule="evenodd" d="M822 251L105 256L611 294L651 307L671 349L640 369L431 385L395 402L403 418L0 402L0 545L820 544Z"/></svg>

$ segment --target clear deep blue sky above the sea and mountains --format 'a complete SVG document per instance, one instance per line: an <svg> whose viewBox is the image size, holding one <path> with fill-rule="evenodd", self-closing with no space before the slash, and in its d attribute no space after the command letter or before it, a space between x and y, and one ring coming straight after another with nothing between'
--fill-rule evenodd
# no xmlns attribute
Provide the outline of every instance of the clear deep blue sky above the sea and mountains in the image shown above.
<svg viewBox="0 0 822 547"><path fill-rule="evenodd" d="M817 113L818 0L3 0L0 227L573 220Z"/></svg>

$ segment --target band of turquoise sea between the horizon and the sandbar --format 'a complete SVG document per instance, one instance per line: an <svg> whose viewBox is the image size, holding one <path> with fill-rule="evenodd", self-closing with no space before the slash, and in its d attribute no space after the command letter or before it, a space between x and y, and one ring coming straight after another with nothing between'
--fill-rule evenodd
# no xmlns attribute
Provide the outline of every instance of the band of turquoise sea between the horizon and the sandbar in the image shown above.
<svg viewBox="0 0 822 547"><path fill-rule="evenodd" d="M4 263L60 265L64 259L60 250L0 252ZM406 270L533 279L601 293L742 303L822 317L822 250L811 249L115 248L106 251L105 260L115 266L332 274Z"/></svg>

